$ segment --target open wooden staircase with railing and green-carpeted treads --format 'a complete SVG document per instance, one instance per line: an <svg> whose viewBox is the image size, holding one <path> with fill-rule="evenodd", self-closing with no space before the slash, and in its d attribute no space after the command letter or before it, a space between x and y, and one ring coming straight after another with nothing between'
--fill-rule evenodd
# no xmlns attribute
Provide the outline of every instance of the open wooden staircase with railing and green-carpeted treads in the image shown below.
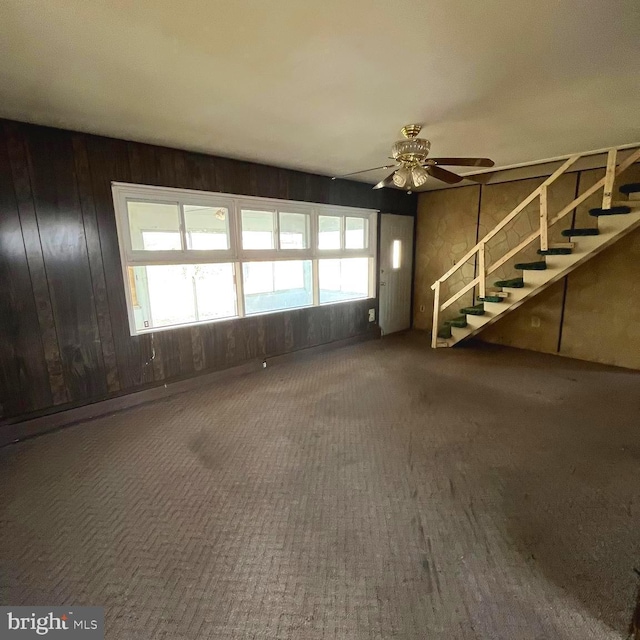
<svg viewBox="0 0 640 640"><path fill-rule="evenodd" d="M581 154L571 156L449 271L431 285L434 291L432 347L452 347L458 342L476 335L484 327L517 309L526 300L560 280L622 236L640 227L640 183L625 184L619 188L619 191L626 196L624 200L613 201L612 196L616 177L640 159L640 149L629 154L619 163L618 153L617 149L609 150L606 173L601 180L589 187L557 214L550 215L547 196L549 185L553 184L582 157ZM585 228L564 229L562 236L567 239L567 242L549 242L549 228L569 215L578 205L600 189L603 189L602 206L589 211L593 223ZM500 259L487 265L487 242L535 200L539 200L540 206L539 228ZM487 288L487 278L494 271L535 241L539 241L539 249L537 250L540 256L539 260L516 263L514 268L519 273L507 280L496 280L492 288ZM476 257L477 276L443 302L440 298L442 284L474 256ZM441 324L441 312L469 291L474 291L478 304L460 309L459 316Z"/></svg>

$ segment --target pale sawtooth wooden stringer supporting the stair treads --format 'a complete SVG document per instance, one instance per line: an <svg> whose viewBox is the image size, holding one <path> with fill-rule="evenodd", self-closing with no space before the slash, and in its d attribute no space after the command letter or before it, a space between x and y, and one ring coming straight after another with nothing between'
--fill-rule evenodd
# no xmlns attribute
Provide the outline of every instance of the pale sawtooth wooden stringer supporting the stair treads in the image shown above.
<svg viewBox="0 0 640 640"><path fill-rule="evenodd" d="M485 315L467 316L467 326L464 329L452 327L451 338L446 340L438 338L438 346L452 347L477 335L485 327L497 322L507 313L522 306L527 300L544 291L554 282L561 280L593 256L615 244L620 238L640 227L640 209L634 207L631 213L599 218L598 227L600 233L597 236L575 238L575 246L571 254L545 256L546 270L523 271L524 287L522 289L508 289L508 305L503 302L485 302Z"/></svg>

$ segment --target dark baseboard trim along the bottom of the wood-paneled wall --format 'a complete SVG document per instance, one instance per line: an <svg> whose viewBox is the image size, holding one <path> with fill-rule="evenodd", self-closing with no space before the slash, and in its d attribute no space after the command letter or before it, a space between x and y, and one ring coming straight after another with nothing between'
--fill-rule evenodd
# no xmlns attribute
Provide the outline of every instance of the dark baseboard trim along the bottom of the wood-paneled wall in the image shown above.
<svg viewBox="0 0 640 640"><path fill-rule="evenodd" d="M81 407L52 412L44 416L23 420L21 422L5 424L0 426L0 447L14 444L21 440L42 435L50 431L55 431L63 427L69 427L73 424L78 424L79 422L99 418L118 411L124 411L147 402L155 402L178 393L184 393L185 391L190 391L192 389L206 387L207 385L215 384L223 379L228 380L230 377L242 376L247 373L261 371L265 360L267 362L267 366L284 364L379 337L380 331L376 328L368 331L367 333L351 338L344 338L342 340L335 340L333 342L327 342L314 347L292 351L290 353L270 356L266 359L255 358L228 369L221 369L219 371L205 373L200 376L170 382L159 387L151 387L141 391L107 398L106 400L100 400Z"/></svg>

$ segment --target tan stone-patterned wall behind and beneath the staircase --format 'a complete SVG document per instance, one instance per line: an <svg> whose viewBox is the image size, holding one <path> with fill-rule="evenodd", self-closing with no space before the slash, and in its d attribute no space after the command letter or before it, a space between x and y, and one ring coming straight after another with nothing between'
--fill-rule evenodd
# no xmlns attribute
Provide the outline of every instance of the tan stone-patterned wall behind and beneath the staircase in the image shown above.
<svg viewBox="0 0 640 640"><path fill-rule="evenodd" d="M604 175L604 169L568 173L549 188L549 214L553 215ZM416 225L414 327L431 330L431 284L455 264L473 245L502 220L542 181L540 178L472 185L420 195ZM640 163L630 167L616 186L640 181ZM551 242L566 241L561 229L593 226L588 210L599 206L602 191L550 230ZM617 194L614 199L622 199ZM488 244L487 265L516 246L536 229L535 201ZM533 261L536 243L496 270L490 285L500 278L516 277L516 262ZM443 287L442 299L458 291L475 275L472 259ZM471 293L456 301L442 315L458 315L473 303ZM640 369L640 229L619 240L535 296L519 309L479 334L486 342L534 351L557 353L582 360Z"/></svg>

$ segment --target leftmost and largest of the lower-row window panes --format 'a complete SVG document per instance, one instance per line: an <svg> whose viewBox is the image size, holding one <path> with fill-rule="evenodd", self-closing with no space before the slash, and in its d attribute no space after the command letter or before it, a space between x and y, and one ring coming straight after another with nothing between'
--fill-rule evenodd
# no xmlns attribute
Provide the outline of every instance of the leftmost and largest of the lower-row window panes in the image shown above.
<svg viewBox="0 0 640 640"><path fill-rule="evenodd" d="M237 315L233 264L129 267L136 329Z"/></svg>

